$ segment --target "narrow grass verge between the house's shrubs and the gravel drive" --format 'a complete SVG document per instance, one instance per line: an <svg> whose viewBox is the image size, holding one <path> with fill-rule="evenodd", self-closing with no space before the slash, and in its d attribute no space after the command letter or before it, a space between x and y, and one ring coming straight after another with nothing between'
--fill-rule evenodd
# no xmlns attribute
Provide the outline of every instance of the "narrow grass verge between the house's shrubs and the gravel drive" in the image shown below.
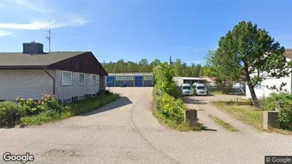
<svg viewBox="0 0 292 164"><path fill-rule="evenodd" d="M18 124L21 125L38 125L47 122L58 121L61 119L67 119L71 116L76 116L79 114L85 114L89 111L93 111L98 109L110 102L114 102L115 100L119 99L119 94L106 94L100 97L92 97L83 99L80 102L73 102L67 104L63 111L45 111L38 115L34 116L25 116L21 118Z"/></svg>

